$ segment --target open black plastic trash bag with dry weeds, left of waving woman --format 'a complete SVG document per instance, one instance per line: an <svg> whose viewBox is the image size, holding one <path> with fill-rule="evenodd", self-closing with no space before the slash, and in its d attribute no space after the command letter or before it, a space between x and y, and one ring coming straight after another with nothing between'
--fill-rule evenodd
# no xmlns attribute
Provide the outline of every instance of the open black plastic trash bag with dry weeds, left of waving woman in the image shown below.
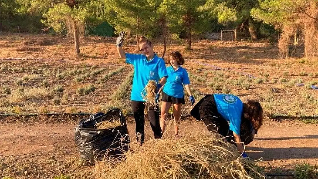
<svg viewBox="0 0 318 179"><path fill-rule="evenodd" d="M119 120L121 125L109 129L97 129L95 124L105 120ZM90 163L104 157L122 157L129 149L129 134L125 117L116 108L106 114L92 114L79 121L75 128L75 143L81 158Z"/></svg>

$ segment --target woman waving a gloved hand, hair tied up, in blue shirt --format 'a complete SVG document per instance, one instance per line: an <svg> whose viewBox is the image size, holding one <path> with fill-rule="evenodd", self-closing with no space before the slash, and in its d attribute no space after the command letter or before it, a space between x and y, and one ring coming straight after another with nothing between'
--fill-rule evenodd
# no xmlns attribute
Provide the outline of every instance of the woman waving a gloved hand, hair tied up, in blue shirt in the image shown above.
<svg viewBox="0 0 318 179"><path fill-rule="evenodd" d="M156 107L145 106L145 101L141 95L142 90L145 88L149 80L155 80L158 83L155 92L158 93L161 86L166 82L168 74L164 60L154 53L153 45L148 39L143 36L140 37L139 48L141 54L131 54L125 53L122 49L124 36L125 32L122 31L120 36L117 38L117 51L122 59L126 59L126 63L134 65L134 79L130 100L136 122L137 141L142 144L145 138L145 107L155 139L162 137L159 121L159 107L158 105Z"/></svg>

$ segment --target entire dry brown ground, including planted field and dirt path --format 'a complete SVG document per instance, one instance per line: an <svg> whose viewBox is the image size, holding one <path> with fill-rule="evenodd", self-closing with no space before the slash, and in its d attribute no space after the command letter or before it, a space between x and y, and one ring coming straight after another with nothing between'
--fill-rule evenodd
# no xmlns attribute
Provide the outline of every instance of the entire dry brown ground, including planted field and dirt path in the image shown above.
<svg viewBox="0 0 318 179"><path fill-rule="evenodd" d="M126 38L123 48L138 53L133 39ZM161 56L162 43L151 40L154 51ZM121 105L129 113L131 87L124 89L120 100L112 99L133 71L133 66L118 58L115 41L85 37L80 44L82 55L76 57L73 41L64 36L0 34L0 114L94 113L104 104ZM317 90L308 88L318 84L317 58L304 58L298 49L291 58L280 59L277 44L273 43L193 40L190 51L185 44L182 39L168 40L166 54L176 50L183 54L196 101L205 94L232 93L243 101L259 101L266 116L318 115ZM120 68L120 72L104 79ZM82 81L77 81L78 77ZM80 95L78 89L88 85L94 85L95 91ZM62 92L54 91L58 86L62 86ZM61 102L55 103L55 99ZM188 100L183 107L184 114L189 114ZM0 118L0 178L53 178L59 174L91 178L94 168L80 166L73 140L79 117ZM132 137L134 125L128 124ZM185 128L207 132L194 120L183 121L181 129ZM262 158L258 163L268 172L292 172L295 163L318 164L317 130L317 124L266 118L246 150L253 160ZM149 124L146 135L146 139L151 137Z"/></svg>

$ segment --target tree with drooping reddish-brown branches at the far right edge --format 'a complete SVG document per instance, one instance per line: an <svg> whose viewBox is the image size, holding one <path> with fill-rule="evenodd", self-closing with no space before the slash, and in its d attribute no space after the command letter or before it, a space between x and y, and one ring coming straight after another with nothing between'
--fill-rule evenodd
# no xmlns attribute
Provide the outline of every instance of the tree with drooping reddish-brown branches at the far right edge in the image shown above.
<svg viewBox="0 0 318 179"><path fill-rule="evenodd" d="M257 20L281 29L279 50L281 57L289 54L289 35L302 33L306 56L318 54L317 0L259 0L259 8L251 10Z"/></svg>

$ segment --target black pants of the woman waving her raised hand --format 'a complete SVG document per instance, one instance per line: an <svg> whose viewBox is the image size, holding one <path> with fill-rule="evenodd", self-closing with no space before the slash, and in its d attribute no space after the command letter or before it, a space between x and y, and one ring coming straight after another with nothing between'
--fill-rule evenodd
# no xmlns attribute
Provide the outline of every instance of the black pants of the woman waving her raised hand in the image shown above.
<svg viewBox="0 0 318 179"><path fill-rule="evenodd" d="M137 135L137 141L141 141L141 143L145 140L145 117L144 117L144 109L146 107L148 118L150 120L150 126L152 128L152 131L154 131L155 139L160 139L162 137L161 127L160 127L160 120L159 120L159 107L158 105L156 107L147 107L145 106L144 102L142 101L131 101L133 112L134 112L134 118L136 122L136 135ZM140 136L138 135L140 134ZM139 137L141 139L139 139Z"/></svg>

